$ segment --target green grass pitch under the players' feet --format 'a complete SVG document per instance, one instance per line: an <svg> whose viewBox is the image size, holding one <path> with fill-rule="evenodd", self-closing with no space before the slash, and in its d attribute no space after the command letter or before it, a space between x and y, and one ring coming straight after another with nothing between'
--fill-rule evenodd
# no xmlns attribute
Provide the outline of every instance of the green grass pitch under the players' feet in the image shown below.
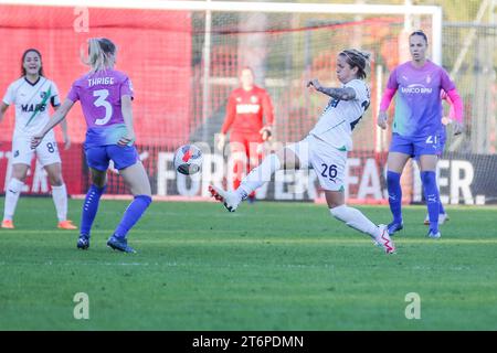
<svg viewBox="0 0 497 353"><path fill-rule="evenodd" d="M0 229L0 330L497 330L495 207L448 207L438 240L425 208L405 207L388 256L325 205L156 202L129 255L105 245L126 205L102 201L83 252L51 199L21 197L17 228ZM385 206L359 208L390 221ZM87 320L74 318L77 292ZM420 319L405 317L411 292Z"/></svg>

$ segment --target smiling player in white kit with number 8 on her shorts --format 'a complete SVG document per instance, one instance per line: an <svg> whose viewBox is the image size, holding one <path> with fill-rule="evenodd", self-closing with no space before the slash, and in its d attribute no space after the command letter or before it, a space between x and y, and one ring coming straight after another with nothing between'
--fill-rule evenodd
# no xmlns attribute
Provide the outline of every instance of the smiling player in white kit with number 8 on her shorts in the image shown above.
<svg viewBox="0 0 497 353"><path fill-rule="evenodd" d="M13 216L19 196L24 186L28 170L33 154L45 169L52 188L53 203L57 213L61 229L76 229L66 218L67 190L62 179L61 157L59 156L55 133L51 131L36 149L31 149L31 137L49 121L49 104L57 109L61 105L59 89L55 83L43 74L41 53L35 49L28 49L22 54L21 78L14 81L7 89L0 105L0 121L10 105L15 105L15 128L12 136L12 178L6 191L2 228L14 228ZM62 125L65 149L71 146L67 125Z"/></svg>

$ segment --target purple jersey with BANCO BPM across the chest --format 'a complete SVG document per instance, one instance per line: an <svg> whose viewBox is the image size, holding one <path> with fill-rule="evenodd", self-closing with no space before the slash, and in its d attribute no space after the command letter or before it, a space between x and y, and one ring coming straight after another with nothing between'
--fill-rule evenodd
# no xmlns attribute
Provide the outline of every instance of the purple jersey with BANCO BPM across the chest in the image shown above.
<svg viewBox="0 0 497 353"><path fill-rule="evenodd" d="M389 77L387 88L396 89L393 132L404 137L441 133L443 108L441 89L455 88L441 66L426 61L423 67L411 62L399 65Z"/></svg>

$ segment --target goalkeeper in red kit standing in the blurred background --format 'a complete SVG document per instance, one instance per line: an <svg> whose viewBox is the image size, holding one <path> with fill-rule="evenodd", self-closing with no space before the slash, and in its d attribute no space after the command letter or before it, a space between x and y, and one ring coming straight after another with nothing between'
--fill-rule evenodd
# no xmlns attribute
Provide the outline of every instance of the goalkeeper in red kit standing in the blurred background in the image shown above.
<svg viewBox="0 0 497 353"><path fill-rule="evenodd" d="M251 67L240 73L241 87L228 100L226 116L219 135L218 148L223 151L230 131L230 150L233 159L233 188L236 190L252 165L262 158L263 142L272 137L273 104L268 93L254 84ZM265 121L264 121L264 119ZM245 170L246 168L246 170ZM254 200L254 194L250 195Z"/></svg>

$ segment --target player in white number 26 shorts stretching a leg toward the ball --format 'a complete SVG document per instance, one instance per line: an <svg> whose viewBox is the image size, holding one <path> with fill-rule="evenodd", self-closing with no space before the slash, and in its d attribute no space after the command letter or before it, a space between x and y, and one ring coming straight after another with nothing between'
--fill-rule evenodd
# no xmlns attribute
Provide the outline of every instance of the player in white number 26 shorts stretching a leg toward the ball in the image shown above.
<svg viewBox="0 0 497 353"><path fill-rule="evenodd" d="M242 184L228 192L210 186L213 197L224 203L230 212L255 189L271 180L277 170L314 168L319 183L325 190L330 213L348 226L369 234L373 242L383 247L387 254L395 250L385 225L374 225L359 210L345 204L343 178L347 151L352 148L352 130L369 107L370 93L363 82L369 64L369 54L357 50L345 50L337 57L337 78L340 88L322 87L317 79L307 86L330 96L321 117L302 141L287 146L266 157L263 162L244 178Z"/></svg>

